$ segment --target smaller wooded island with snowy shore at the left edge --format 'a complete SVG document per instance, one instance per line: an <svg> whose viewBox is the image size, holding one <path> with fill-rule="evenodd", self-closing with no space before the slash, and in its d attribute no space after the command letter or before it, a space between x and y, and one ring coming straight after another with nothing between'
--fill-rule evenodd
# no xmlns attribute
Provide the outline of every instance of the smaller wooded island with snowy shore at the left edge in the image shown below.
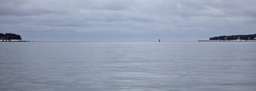
<svg viewBox="0 0 256 91"><path fill-rule="evenodd" d="M0 42L28 42L21 40L20 35L16 35L13 33L0 33Z"/></svg>

